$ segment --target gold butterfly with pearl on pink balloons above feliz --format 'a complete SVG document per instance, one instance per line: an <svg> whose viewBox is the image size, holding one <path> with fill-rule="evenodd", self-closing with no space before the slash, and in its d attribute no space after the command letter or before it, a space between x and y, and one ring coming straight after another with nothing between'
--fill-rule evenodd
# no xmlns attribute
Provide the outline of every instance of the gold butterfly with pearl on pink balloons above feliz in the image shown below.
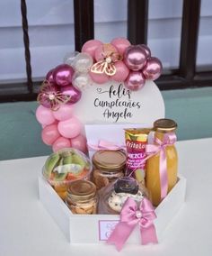
<svg viewBox="0 0 212 256"><path fill-rule="evenodd" d="M122 60L118 52L114 52L114 47L108 43L103 44L102 59L93 64L91 71L95 74L105 73L108 76L116 74L115 62Z"/></svg>

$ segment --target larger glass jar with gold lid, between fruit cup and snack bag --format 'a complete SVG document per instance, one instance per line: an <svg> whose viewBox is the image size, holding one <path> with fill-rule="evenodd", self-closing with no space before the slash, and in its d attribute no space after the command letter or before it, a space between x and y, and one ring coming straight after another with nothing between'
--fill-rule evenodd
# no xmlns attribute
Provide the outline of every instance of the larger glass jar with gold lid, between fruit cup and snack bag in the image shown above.
<svg viewBox="0 0 212 256"><path fill-rule="evenodd" d="M93 154L93 183L101 189L124 176L126 154L124 151L96 151Z"/></svg>

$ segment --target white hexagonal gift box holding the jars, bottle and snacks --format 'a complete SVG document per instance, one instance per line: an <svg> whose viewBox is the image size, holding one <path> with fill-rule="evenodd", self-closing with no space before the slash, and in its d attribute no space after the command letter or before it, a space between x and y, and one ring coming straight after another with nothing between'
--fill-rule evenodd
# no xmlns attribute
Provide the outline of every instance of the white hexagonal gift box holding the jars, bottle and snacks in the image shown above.
<svg viewBox="0 0 212 256"><path fill-rule="evenodd" d="M186 179L179 176L177 184L155 208L155 229L159 242L172 217L177 214L185 200ZM73 215L64 201L57 195L49 183L39 177L40 201L58 224L66 238L71 243L105 242L114 224L119 221L119 215ZM131 233L128 243L140 243L138 227Z"/></svg>

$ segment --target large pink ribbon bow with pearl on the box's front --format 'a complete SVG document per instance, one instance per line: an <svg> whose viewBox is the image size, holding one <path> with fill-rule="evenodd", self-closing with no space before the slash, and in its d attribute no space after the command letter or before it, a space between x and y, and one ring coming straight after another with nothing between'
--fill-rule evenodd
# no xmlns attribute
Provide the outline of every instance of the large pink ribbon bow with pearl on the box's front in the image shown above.
<svg viewBox="0 0 212 256"><path fill-rule="evenodd" d="M137 202L128 197L121 209L120 221L110 234L107 242L114 243L117 250L120 251L128 240L130 233L139 224L141 244L157 243L155 225L153 223L155 218L154 206L148 199L144 198L140 206L137 207Z"/></svg>

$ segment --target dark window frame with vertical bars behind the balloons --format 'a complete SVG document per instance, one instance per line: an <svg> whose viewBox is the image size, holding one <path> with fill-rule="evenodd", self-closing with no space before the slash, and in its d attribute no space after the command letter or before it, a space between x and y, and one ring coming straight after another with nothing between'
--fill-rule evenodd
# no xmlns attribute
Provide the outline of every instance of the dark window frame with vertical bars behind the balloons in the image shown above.
<svg viewBox="0 0 212 256"><path fill-rule="evenodd" d="M161 90L188 87L208 87L212 84L212 69L197 70L199 17L201 0L184 0L181 23L181 50L178 69L162 75L156 84ZM21 1L22 32L25 48L26 83L1 85L0 102L35 100L41 81L32 82L31 51L28 33L27 5ZM75 50L81 50L85 41L94 37L93 0L74 0ZM133 44L146 43L148 27L148 0L128 0L128 40Z"/></svg>

